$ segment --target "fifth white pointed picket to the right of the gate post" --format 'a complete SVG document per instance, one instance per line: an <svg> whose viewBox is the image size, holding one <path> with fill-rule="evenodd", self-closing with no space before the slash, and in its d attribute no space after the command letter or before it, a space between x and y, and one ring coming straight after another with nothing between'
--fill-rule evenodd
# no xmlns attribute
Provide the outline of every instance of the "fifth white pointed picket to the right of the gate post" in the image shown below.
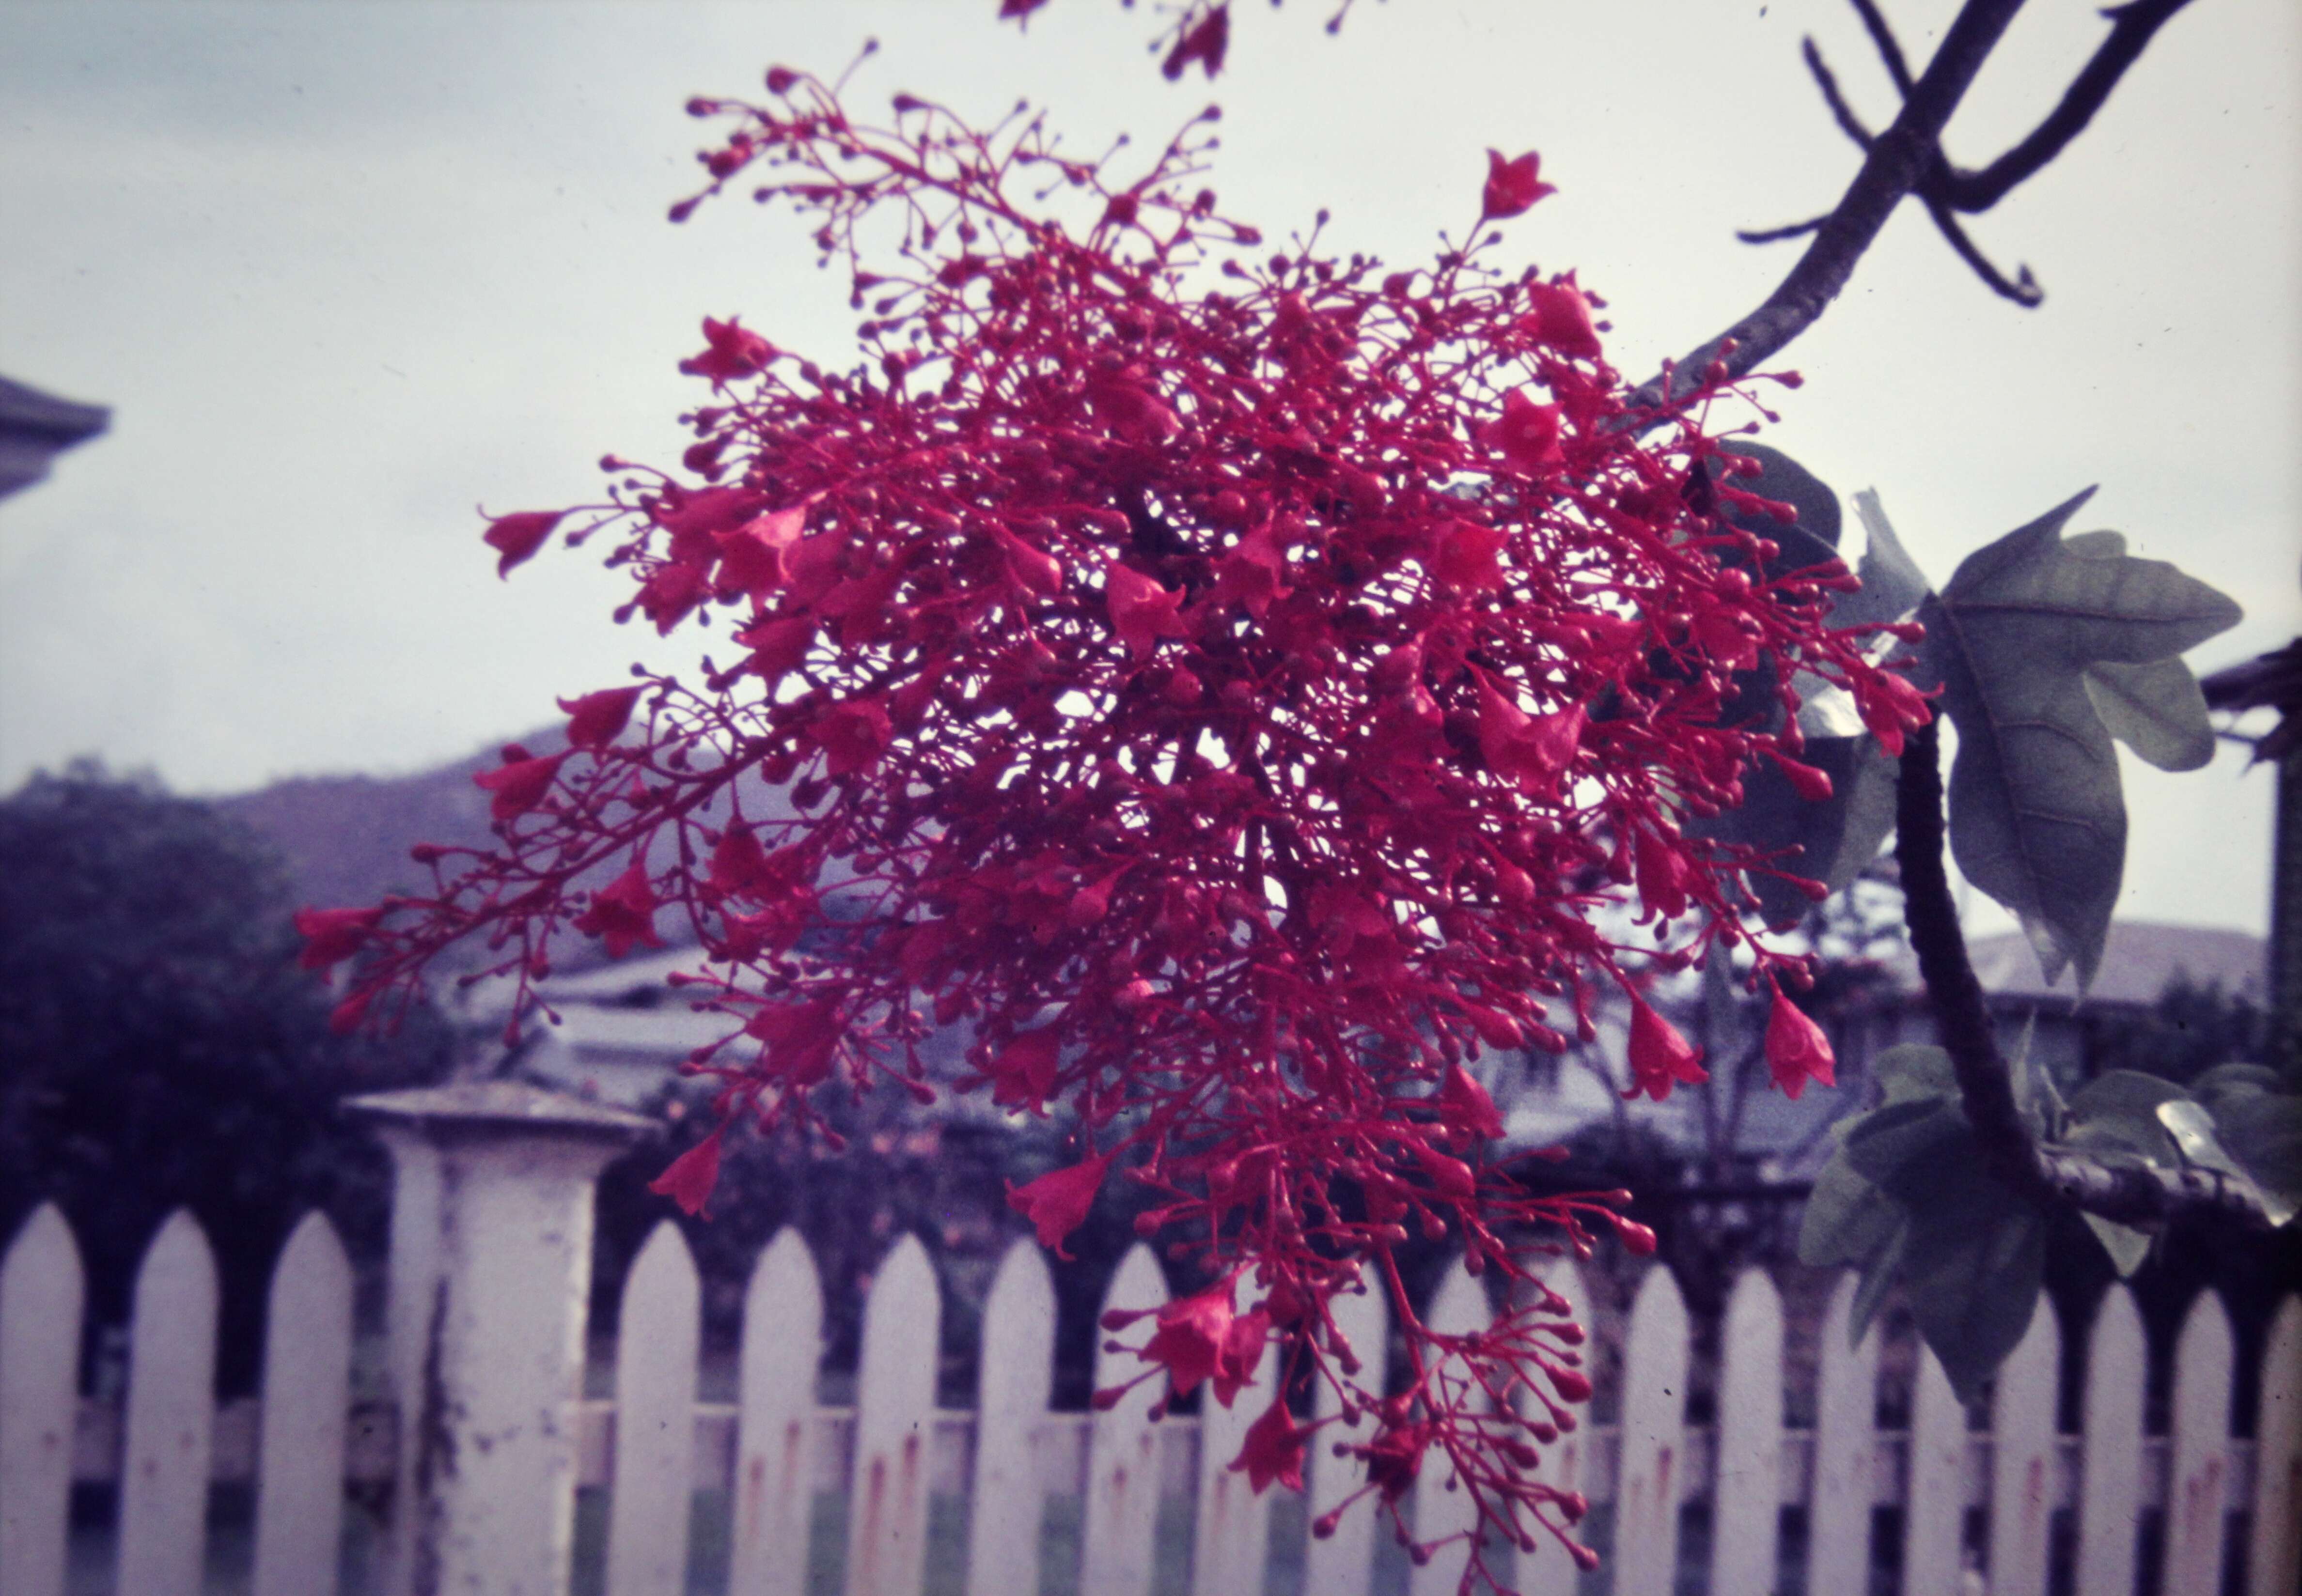
<svg viewBox="0 0 2302 1596"><path fill-rule="evenodd" d="M1167 1302L1158 1258L1137 1242L1119 1260L1103 1292L1105 1313L1142 1313ZM1133 1352L1110 1341L1096 1348L1096 1389L1107 1391L1144 1373ZM1151 1407L1163 1391L1142 1380L1089 1424L1087 1527L1080 1539L1080 1596L1146 1596L1151 1536L1158 1527L1158 1424Z"/></svg>

